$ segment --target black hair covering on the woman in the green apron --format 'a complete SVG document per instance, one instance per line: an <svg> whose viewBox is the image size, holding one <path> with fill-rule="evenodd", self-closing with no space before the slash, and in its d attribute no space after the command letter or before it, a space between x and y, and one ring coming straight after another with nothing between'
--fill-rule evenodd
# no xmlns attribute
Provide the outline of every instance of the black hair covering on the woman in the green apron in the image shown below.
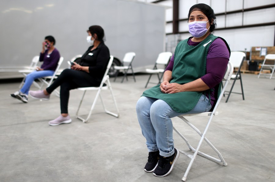
<svg viewBox="0 0 275 182"><path fill-rule="evenodd" d="M189 21L189 16L190 16L191 12L193 12L195 10L200 10L201 12L203 12L205 14L205 16L207 16L207 18L210 22L210 32L213 32L217 26L214 10L210 6L203 4L203 3L193 5L189 9L188 21ZM213 19L213 22L212 22L212 19ZM211 23L212 23L212 25L211 25Z"/></svg>

